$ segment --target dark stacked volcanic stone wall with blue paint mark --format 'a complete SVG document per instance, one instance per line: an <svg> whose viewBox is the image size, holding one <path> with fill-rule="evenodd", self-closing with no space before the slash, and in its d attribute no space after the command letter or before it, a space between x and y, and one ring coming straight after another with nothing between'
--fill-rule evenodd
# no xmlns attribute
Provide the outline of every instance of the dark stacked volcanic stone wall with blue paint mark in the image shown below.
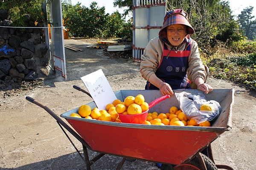
<svg viewBox="0 0 256 170"><path fill-rule="evenodd" d="M0 27L0 80L34 81L49 75L48 47L43 22L27 17L28 27ZM6 11L0 10L0 26L12 26Z"/></svg>

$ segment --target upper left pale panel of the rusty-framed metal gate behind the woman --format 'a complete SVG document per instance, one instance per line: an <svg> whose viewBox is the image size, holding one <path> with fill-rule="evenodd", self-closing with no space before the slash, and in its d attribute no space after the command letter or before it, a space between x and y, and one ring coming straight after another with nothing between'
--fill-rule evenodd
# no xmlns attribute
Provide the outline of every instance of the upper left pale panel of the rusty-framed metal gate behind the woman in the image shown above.
<svg viewBox="0 0 256 170"><path fill-rule="evenodd" d="M137 8L135 9L135 26L147 26L148 25L148 9Z"/></svg>

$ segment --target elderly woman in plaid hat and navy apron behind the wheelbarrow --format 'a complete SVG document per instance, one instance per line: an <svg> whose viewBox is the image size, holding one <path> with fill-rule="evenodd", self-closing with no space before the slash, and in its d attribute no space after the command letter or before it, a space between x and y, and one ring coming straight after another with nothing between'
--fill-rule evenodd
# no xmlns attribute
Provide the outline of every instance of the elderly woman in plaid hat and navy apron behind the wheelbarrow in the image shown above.
<svg viewBox="0 0 256 170"><path fill-rule="evenodd" d="M160 89L173 95L173 89L191 89L188 76L206 94L213 88L204 83L207 72L198 52L198 44L187 13L175 9L166 13L159 37L148 42L141 56L140 73L147 80L145 89Z"/></svg>

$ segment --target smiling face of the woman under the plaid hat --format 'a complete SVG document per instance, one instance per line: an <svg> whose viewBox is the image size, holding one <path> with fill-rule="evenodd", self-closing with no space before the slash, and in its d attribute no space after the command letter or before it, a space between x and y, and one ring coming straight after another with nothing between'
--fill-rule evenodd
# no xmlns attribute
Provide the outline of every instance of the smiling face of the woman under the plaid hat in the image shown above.
<svg viewBox="0 0 256 170"><path fill-rule="evenodd" d="M166 29L167 38L173 46L179 46L186 37L186 26L183 24L174 24Z"/></svg>

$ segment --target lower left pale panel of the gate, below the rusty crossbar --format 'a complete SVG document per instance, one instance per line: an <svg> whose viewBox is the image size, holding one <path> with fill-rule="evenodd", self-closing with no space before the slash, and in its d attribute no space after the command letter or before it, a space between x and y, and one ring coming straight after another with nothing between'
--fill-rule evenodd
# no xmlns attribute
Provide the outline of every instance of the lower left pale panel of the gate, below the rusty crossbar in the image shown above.
<svg viewBox="0 0 256 170"><path fill-rule="evenodd" d="M148 37L147 29L135 29L135 43L134 45L138 48L145 48L145 46L148 43L147 37Z"/></svg>

